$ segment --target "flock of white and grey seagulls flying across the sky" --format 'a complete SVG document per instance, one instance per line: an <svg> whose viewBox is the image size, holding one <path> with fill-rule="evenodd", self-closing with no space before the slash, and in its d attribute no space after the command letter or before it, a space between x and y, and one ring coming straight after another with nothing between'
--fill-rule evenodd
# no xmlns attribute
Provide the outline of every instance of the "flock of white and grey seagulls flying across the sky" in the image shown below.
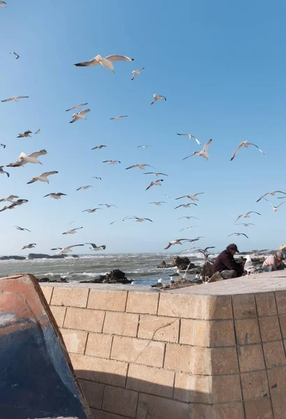
<svg viewBox="0 0 286 419"><path fill-rule="evenodd" d="M0 0L0 8L6 8L6 2ZM17 52L13 51L10 52L10 54L13 55L13 57L15 57L16 60L20 59L20 54L17 54ZM77 64L74 64L74 66L76 67L93 67L93 66L103 66L103 68L107 69L108 71L111 71L112 73L115 73L114 71L114 63L116 63L117 61L126 61L126 62L133 62L134 59L127 57L125 55L108 55L107 57L102 57L100 54L96 55L96 57L93 57L92 59L90 59L89 61L82 61L79 62ZM132 71L132 78L131 80L135 80L135 78L137 78L137 76L139 76L142 71L144 71L144 67L142 68L138 68L137 70L133 70ZM3 100L1 100L1 103L8 103L8 102L19 102L22 101L22 99L28 99L29 96L10 96L9 98L4 98ZM153 100L151 101L151 105L153 105L154 103L156 103L157 101L167 101L167 98L163 95L159 95L159 94L153 94ZM89 108L84 108L86 105L88 105L88 103L80 103L78 105L73 105L70 108L66 109L66 112L70 112L72 110L77 110L77 113L73 113L72 115L72 119L70 121L70 124L73 124L75 122L78 122L80 120L86 120L86 114L88 114L90 112ZM127 118L128 115L119 115L119 116L115 116L115 117L111 117L111 120L114 121L121 121L122 119ZM27 138L27 137L31 137L31 135L36 135L40 133L40 128L38 128L36 131L24 131L23 133L19 133L19 135L17 135L17 138ZM186 160L188 158L190 158L191 156L200 156L203 159L208 160L209 159L209 147L212 145L213 140L210 139L209 141L206 142L206 144L204 144L202 146L200 140L198 140L198 138L191 134L191 133L177 133L177 135L179 136L186 136L189 138L189 140L194 140L197 145L199 147L202 147L202 149L200 149L199 151L195 151L192 154L186 156L183 158L183 160ZM239 153L239 150L245 148L248 149L248 147L253 146L256 147L258 149L258 151L263 154L265 156L265 153L262 151L262 149L260 149L256 144L254 144L253 142L248 142L248 141L242 141L239 143L239 145L236 147L234 153L231 156L230 161L234 160L234 158L237 156L237 154ZM6 145L4 144L0 144L0 147L3 147L3 149L6 148ZM96 147L93 147L92 150L100 150L107 147L107 145L96 145ZM147 147L153 147L151 145L138 145L138 148L147 148ZM27 164L40 164L42 165L43 163L40 161L40 157L41 156L45 156L45 154L47 154L47 151L45 149L40 149L38 152L33 152L31 154L25 154L24 152L21 152L20 155L17 157L17 160L13 163L8 163L6 165L6 168L17 168L20 166L24 166ZM120 164L121 161L119 160L104 160L103 163L109 164L109 165L117 165ZM4 170L5 166L0 166L0 174L4 174L7 177L10 176L9 172L7 170ZM140 169L144 171L144 175L154 175L155 177L160 177L159 179L156 179L154 181L152 181L148 186L146 186L146 191L148 191L149 189L151 189L153 186L162 186L162 182L164 182L164 179L162 177L167 177L168 175L166 173L163 172L145 172L146 168L151 168L153 170L156 170L156 168L153 168L153 166L147 164L147 163L135 163L132 166L128 166L125 170L131 170L131 169ZM150 170L150 169L149 169ZM58 171L57 170L53 170L50 172L43 172L38 176L34 176L32 177L32 179L29 180L29 182L27 182L27 184L32 184L34 182L46 182L47 184L50 183L50 176L52 175L57 175ZM101 177L93 177L94 179L97 180L101 180ZM80 186L79 188L76 189L76 191L84 191L86 189L91 188L91 185L84 185L84 186ZM269 203L274 212L278 211L278 208L283 205L285 203L282 202L280 203L280 205L273 205L273 203L271 203L271 201L269 201L266 196L275 196L276 193L280 193L282 196L279 196L278 198L286 198L286 192L284 191L271 191L271 192L267 192L264 193L264 195L262 195L259 199L257 199L257 203L259 201L265 200L267 203ZM179 196L178 198L174 198L174 200L181 200L181 199L186 199L186 200L190 200L191 202L186 202L186 203L181 203L179 205L177 205L176 207L174 207L174 210L178 209L178 208L190 208L192 205L197 206L197 203L195 201L198 201L198 196L204 194L204 192L198 192L198 193L193 193L193 195L183 195L183 196ZM53 198L55 200L59 200L61 199L63 196L66 196L66 193L62 193L62 192L57 192L57 193L47 193L44 198L46 197L50 197ZM165 194L165 196L167 198L171 198L170 196L167 196L167 194ZM173 198L171 198L173 199ZM6 210L14 210L16 207L23 205L25 203L28 203L27 199L22 199L19 198L19 196L15 196L15 195L10 195L8 197L3 197L0 199L0 203L5 203L5 205L0 209L0 212L6 211ZM156 206L161 206L162 204L166 204L165 201L152 201L149 204L151 205L156 205ZM83 210L82 212L88 212L89 214L93 214L95 212L97 212L98 210L103 210L102 207L106 207L106 208L110 208L110 207L116 207L116 205L112 205L112 204L98 204L98 207L96 208L88 208L86 210ZM118 207L117 207L118 208ZM236 226L244 226L244 227L249 227L249 226L253 226L253 223L237 223L237 221L241 220L241 219L248 219L250 218L250 214L256 214L256 215L261 215L259 212L255 212L255 211L249 211L246 212L246 214L241 214L239 216L237 216L236 220L234 221L234 224ZM179 219L197 219L197 217L195 216L181 216L179 217ZM149 218L140 218L137 216L124 216L123 218L119 219L119 220L115 220L112 221L110 223L110 225L116 223L117 221L125 221L125 220L134 220L137 223L143 223L145 221L149 221L149 222L153 222L151 219ZM17 230L20 230L22 232L27 231L29 233L31 233L31 230L29 230L28 228L23 228L21 226L14 226ZM191 230L193 228L196 228L197 226L188 226L186 228L181 228L180 231L183 230ZM81 230L83 227L77 227L77 228L73 228L70 229L66 232L63 232L63 235L74 235L77 233L78 230ZM231 236L244 236L246 238L248 238L248 235L246 235L245 233L231 233L229 234L229 236L227 237L231 237ZM174 239L171 240L170 242L168 242L167 246L164 249L170 249L170 247L179 244L186 244L186 243L190 243L190 244L194 244L195 242L197 242L198 240L200 240L202 237L196 237L195 239L189 239L189 238L183 238L183 239ZM100 246L97 246L94 243L84 243L84 244L73 244L71 246L68 247L54 247L51 250L52 251L58 251L59 254L62 253L68 253L69 251L72 251L72 249L74 247L83 247L85 244L88 244L91 246L91 250L93 251L102 251L106 249L105 244L102 244ZM22 249L32 249L36 247L36 243L29 243L26 244L24 247L22 247ZM208 249L212 249L213 247L206 247L206 249L199 249L198 251L200 251L200 253L204 254L204 257L207 257L209 253L207 253ZM197 248L193 248L193 249L197 249Z"/></svg>

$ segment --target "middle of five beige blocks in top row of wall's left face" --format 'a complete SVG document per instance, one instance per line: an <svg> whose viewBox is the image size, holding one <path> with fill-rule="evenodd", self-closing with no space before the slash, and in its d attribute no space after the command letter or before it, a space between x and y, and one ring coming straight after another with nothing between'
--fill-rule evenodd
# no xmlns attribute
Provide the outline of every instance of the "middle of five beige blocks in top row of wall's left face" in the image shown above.
<svg viewBox="0 0 286 419"><path fill-rule="evenodd" d="M91 290L87 308L107 311L125 311L127 291Z"/></svg>

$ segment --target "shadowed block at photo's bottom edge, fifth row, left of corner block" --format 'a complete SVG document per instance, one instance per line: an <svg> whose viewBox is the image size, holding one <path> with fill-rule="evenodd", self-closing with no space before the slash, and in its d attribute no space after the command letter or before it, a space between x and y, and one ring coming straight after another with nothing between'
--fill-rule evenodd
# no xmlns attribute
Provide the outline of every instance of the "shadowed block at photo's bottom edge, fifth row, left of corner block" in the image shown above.
<svg viewBox="0 0 286 419"><path fill-rule="evenodd" d="M136 419L189 419L190 405L140 393ZM193 418L192 418L193 419ZM198 419L198 418L196 418ZM202 418L200 418L202 419Z"/></svg>

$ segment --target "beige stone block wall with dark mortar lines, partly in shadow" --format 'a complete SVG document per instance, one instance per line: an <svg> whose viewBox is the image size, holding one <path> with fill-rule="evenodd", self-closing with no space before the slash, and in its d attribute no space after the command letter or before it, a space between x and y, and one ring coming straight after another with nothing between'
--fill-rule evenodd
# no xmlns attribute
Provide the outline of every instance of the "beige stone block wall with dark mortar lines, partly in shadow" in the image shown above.
<svg viewBox="0 0 286 419"><path fill-rule="evenodd" d="M286 418L286 291L82 285L42 289L94 418Z"/></svg>

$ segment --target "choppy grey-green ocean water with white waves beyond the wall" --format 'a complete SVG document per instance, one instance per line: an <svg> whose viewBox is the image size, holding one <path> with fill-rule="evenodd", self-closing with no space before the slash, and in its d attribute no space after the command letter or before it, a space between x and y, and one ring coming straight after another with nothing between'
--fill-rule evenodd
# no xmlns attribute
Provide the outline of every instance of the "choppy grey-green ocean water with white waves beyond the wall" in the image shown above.
<svg viewBox="0 0 286 419"><path fill-rule="evenodd" d="M68 275L68 281L80 281L114 269L126 273L138 285L151 285L162 279L163 283L170 281L170 274L176 272L176 267L158 269L158 263L165 260L172 263L172 258L178 253L97 253L95 255L82 255L79 258L64 259L33 259L33 260L0 260L0 277L11 274L30 273L37 278L59 279ZM181 253L188 256L195 265L202 265L203 258L200 253Z"/></svg>

